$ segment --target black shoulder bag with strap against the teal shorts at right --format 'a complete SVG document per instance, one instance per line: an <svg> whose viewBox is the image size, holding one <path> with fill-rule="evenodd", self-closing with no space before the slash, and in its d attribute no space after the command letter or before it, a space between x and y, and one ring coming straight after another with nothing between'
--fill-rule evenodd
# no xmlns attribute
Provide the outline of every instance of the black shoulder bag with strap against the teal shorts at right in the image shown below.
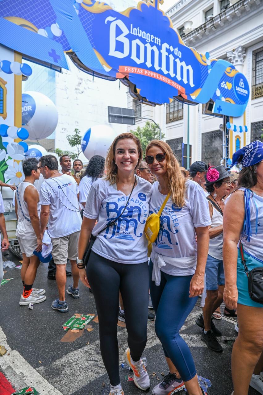
<svg viewBox="0 0 263 395"><path fill-rule="evenodd" d="M244 257L244 248L241 241L239 244L239 249L242 263L248 277L248 293L250 299L263 305L263 267L255 267L251 271L248 271L248 267L246 265L246 260Z"/></svg>

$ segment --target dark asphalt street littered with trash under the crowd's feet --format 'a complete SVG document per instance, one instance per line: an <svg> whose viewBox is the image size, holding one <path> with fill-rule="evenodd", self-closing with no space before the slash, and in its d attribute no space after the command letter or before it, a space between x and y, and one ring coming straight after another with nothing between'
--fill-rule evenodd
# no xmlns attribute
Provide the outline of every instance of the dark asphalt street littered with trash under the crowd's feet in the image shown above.
<svg viewBox="0 0 263 395"><path fill-rule="evenodd" d="M20 264L11 253L4 256L4 260ZM67 295L67 313L52 310L51 302L57 297L56 282L47 280L47 264L41 263L34 286L45 288L47 300L30 310L28 306L19 306L22 292L20 269L5 270L4 278L13 277L13 280L0 288L0 345L8 350L0 357L0 374L2 372L16 390L34 386L42 395L108 395L109 380L100 356L98 323L92 321L92 330L83 329L82 336L73 342L61 341L65 335L62 325L74 313L96 315L92 293L80 284L79 299ZM67 278L67 286L71 285L71 281L71 277ZM224 349L222 354L217 354L200 339L201 329L195 324L200 312L201 308L195 306L180 333L190 346L197 374L212 383L208 395L230 395L233 390L231 349L237 337L235 320L223 316L220 322L216 322L223 333L219 340ZM133 382L125 380L129 371L121 367L127 346L125 327L118 327L118 342L124 393L139 394L141 391ZM151 389L162 380L163 374L167 374L162 347L154 332L154 322L148 323L148 341L143 356L148 361L151 393ZM258 395L258 392L250 388L249 395Z"/></svg>

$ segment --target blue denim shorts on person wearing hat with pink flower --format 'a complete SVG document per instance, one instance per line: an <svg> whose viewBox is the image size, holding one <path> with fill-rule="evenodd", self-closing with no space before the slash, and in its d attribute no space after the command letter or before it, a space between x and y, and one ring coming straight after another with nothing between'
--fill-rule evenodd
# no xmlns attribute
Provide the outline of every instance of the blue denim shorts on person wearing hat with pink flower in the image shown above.
<svg viewBox="0 0 263 395"><path fill-rule="evenodd" d="M225 285L223 261L208 255L205 275L207 291L216 291L218 289L218 285Z"/></svg>

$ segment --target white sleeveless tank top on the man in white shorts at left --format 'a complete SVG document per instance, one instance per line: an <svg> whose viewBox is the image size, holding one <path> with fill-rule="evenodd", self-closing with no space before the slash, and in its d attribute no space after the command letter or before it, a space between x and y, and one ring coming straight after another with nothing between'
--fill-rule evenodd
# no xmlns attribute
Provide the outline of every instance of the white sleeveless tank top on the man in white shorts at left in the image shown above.
<svg viewBox="0 0 263 395"><path fill-rule="evenodd" d="M33 226L30 221L30 216L28 213L28 206L27 203L24 201L24 191L28 186L34 186L34 185L31 184L31 182L21 182L21 184L17 186L19 199L17 196L17 192L15 193L15 199L17 201L17 215L18 215L17 231L15 234L16 236L21 237L21 239L36 239L36 233L33 229ZM36 187L34 186L34 188ZM40 216L40 210L41 210L41 205L38 203L38 216Z"/></svg>

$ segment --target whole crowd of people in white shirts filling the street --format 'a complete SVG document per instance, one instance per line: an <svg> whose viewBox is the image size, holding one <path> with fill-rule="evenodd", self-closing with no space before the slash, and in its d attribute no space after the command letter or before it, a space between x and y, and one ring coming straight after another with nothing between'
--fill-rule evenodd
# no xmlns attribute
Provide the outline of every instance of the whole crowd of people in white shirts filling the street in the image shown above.
<svg viewBox="0 0 263 395"><path fill-rule="evenodd" d="M203 312L196 324L201 340L213 352L222 352L222 333L214 319L221 318L224 300L224 314L238 319L232 395L247 395L249 386L263 394L262 155L263 143L254 141L233 155L232 166L239 164L240 172L200 161L186 170L164 141L151 141L144 156L139 139L123 133L106 159L95 155L86 169L75 160L72 175L68 155L60 158L61 171L53 155L25 160L25 179L15 194L16 234L23 253L19 304L46 299L45 290L33 285L44 251L52 251L48 278L56 280L58 298L51 307L67 312L65 293L79 298L79 280L94 295L110 395L124 395L118 319L126 322L124 359L134 384L144 391L150 387L141 359L147 321L154 320L148 308L156 314L156 335L167 361L167 374L152 394L185 388L188 395L204 395L179 332L200 296ZM9 242L3 213L0 196L5 250ZM151 214L160 217L153 243L145 235ZM66 271L68 260L71 272ZM71 275L66 290L66 276Z"/></svg>

